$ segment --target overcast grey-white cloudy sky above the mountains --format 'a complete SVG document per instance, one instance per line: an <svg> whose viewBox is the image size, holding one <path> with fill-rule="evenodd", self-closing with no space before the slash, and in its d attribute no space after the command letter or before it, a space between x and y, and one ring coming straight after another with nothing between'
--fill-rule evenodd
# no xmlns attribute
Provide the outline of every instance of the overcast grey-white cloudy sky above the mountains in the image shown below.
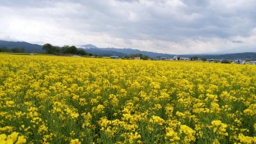
<svg viewBox="0 0 256 144"><path fill-rule="evenodd" d="M256 52L256 0L0 0L0 40Z"/></svg>

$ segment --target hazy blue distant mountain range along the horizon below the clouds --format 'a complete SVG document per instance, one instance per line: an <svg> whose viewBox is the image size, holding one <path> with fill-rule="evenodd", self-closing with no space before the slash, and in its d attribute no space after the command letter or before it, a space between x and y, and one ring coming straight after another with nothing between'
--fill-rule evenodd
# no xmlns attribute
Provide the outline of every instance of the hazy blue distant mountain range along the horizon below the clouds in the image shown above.
<svg viewBox="0 0 256 144"><path fill-rule="evenodd" d="M30 44L28 42L8 42L0 40L0 47L7 47L8 49L12 49L13 47L24 47L25 52L44 52L42 50L42 45ZM131 54L144 54L149 56L150 58L173 58L173 56L177 55L180 57L188 57L191 58L193 56L198 56L200 58L207 59L221 59L221 60L256 60L256 52L243 52L243 53L235 53L235 54L163 54L157 52L148 52L148 51L140 51L138 49L117 49L113 47L108 48L100 48L96 47L92 44L87 45L79 45L77 46L79 49L84 49L86 52L90 52L92 54L97 54L98 56L130 56Z"/></svg>

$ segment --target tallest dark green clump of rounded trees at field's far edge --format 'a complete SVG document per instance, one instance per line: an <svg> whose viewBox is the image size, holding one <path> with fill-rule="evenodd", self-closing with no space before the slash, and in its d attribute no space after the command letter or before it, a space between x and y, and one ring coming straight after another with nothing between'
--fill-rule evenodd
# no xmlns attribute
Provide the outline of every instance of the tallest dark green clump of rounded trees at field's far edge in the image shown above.
<svg viewBox="0 0 256 144"><path fill-rule="evenodd" d="M81 56L97 56L95 54L88 53L83 49L77 49L74 45L64 45L63 47L57 47L51 44L44 44L42 49L47 54L56 54L56 55L67 55L67 54L77 54Z"/></svg>

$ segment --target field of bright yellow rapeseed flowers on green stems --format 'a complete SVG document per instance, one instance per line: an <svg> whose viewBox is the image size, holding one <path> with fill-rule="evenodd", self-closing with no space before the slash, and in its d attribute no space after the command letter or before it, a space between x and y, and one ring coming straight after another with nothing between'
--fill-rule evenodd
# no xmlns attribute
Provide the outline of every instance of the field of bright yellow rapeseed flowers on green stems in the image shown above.
<svg viewBox="0 0 256 144"><path fill-rule="evenodd" d="M256 143L256 67L0 54L0 143Z"/></svg>

